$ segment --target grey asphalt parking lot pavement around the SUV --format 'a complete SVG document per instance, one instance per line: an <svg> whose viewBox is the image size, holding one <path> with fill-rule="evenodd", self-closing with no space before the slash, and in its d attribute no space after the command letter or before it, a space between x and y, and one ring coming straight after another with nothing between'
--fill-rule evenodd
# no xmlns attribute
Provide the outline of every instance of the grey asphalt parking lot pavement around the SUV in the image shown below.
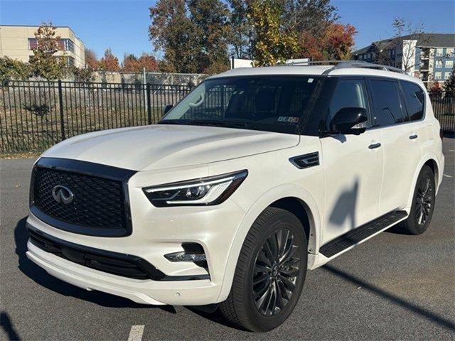
<svg viewBox="0 0 455 341"><path fill-rule="evenodd" d="M444 154L427 232L392 229L309 271L294 313L265 334L48 275L25 254L34 160L0 160L0 340L455 340L455 139Z"/></svg>

